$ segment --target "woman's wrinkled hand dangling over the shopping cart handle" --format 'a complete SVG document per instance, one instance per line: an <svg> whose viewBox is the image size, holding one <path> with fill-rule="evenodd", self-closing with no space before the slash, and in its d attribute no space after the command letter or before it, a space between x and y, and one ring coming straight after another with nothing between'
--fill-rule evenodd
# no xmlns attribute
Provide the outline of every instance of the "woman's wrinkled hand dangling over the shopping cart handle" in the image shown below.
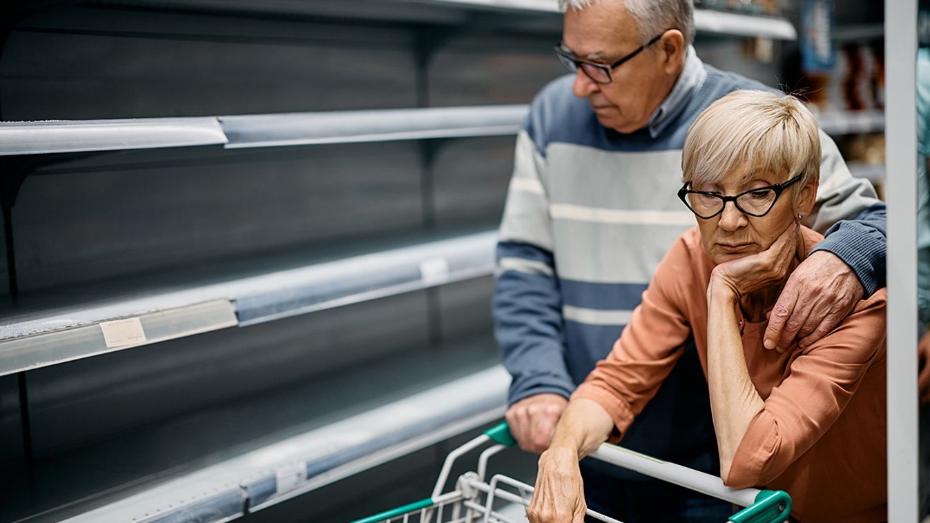
<svg viewBox="0 0 930 523"><path fill-rule="evenodd" d="M574 449L551 449L539 457L536 490L526 507L530 523L584 523L587 505Z"/></svg>

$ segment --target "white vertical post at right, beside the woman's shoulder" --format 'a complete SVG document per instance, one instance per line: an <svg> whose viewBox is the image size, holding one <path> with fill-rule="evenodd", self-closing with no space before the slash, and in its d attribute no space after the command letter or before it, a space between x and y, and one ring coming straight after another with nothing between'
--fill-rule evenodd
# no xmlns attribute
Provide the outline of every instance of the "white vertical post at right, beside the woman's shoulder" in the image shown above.
<svg viewBox="0 0 930 523"><path fill-rule="evenodd" d="M888 202L888 520L916 522L917 0L885 0Z"/></svg>

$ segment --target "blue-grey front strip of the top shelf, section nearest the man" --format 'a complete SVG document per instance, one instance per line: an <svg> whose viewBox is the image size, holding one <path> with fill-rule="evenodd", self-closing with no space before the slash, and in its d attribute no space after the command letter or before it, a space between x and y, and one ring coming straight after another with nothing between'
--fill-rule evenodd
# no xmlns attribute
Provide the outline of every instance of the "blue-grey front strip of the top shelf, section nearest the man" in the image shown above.
<svg viewBox="0 0 930 523"><path fill-rule="evenodd" d="M227 148L277 147L439 137L512 135L528 107L502 105L385 111L221 116Z"/></svg>

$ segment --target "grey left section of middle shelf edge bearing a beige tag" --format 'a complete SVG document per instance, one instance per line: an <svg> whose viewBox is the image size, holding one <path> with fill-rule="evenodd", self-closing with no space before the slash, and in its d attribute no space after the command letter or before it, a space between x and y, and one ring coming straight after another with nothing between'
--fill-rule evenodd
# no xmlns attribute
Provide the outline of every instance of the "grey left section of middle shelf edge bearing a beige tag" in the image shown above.
<svg viewBox="0 0 930 523"><path fill-rule="evenodd" d="M115 341L108 338L108 334L116 330L126 331L126 327L101 320L110 318L102 318L82 327L0 341L0 376L216 331L233 327L237 323L233 304L228 300L214 300L124 318L138 320L139 323L135 326L130 324L128 333L114 333Z"/></svg>

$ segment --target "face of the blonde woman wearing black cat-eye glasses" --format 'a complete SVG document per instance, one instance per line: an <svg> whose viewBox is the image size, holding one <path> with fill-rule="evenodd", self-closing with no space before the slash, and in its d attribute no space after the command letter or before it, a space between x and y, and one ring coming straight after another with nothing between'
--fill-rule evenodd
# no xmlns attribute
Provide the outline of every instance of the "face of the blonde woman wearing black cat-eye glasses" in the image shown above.
<svg viewBox="0 0 930 523"><path fill-rule="evenodd" d="M759 189L787 181L784 175L759 172L746 180L744 172L732 172L713 184L698 184L692 190L716 192L732 196L747 190ZM743 214L733 202L724 205L724 212L709 219L697 218L704 250L715 265L769 248L794 220L798 213L806 214L814 205L817 185L809 183L795 196L794 186L781 193L772 210L765 216Z"/></svg>

